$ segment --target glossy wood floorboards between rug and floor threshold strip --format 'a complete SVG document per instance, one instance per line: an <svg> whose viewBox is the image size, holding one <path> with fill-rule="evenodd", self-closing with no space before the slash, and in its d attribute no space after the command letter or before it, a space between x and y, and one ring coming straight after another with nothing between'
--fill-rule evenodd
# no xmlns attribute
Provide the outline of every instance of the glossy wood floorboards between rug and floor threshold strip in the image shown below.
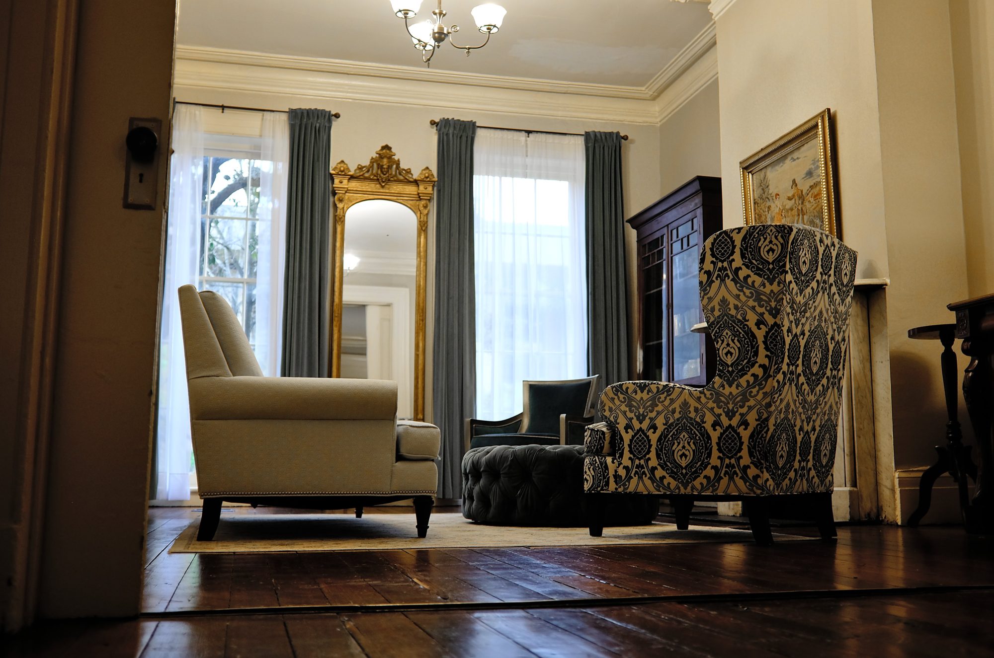
<svg viewBox="0 0 994 658"><path fill-rule="evenodd" d="M229 514L264 514L236 508ZM284 510L278 510L279 513ZM389 513L408 512L394 508ZM379 511L371 511L379 513ZM959 528L840 527L836 544L169 554L191 508L149 512L143 610L534 601L994 583L990 541ZM784 532L813 535L812 528ZM772 566L775 565L775 568Z"/></svg>

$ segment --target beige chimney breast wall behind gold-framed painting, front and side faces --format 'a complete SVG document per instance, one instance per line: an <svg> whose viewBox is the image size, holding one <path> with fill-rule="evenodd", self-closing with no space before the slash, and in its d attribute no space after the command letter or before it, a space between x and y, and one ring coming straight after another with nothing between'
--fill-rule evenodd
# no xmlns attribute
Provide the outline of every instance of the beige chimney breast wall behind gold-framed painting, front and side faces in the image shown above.
<svg viewBox="0 0 994 658"><path fill-rule="evenodd" d="M930 463L943 426L938 350L909 328L964 296L963 222L944 2L740 0L717 21L725 226L739 162L824 107L836 126L842 239L887 290L895 460Z"/></svg>

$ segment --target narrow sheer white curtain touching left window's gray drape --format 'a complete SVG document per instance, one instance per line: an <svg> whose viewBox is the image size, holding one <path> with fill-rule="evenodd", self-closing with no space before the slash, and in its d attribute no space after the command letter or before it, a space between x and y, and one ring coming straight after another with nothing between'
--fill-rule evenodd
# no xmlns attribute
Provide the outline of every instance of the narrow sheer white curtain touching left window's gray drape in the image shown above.
<svg viewBox="0 0 994 658"><path fill-rule="evenodd" d="M290 126L283 112L263 112L260 155L255 357L265 375L278 377L283 347L286 174L290 157Z"/></svg>

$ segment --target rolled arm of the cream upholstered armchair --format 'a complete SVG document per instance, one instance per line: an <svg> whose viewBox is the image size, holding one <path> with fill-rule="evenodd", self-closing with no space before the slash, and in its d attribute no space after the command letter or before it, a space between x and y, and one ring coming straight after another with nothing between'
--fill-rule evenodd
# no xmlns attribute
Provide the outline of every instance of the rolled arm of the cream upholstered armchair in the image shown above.
<svg viewBox="0 0 994 658"><path fill-rule="evenodd" d="M321 377L201 377L190 380L194 420L390 420L397 383Z"/></svg>

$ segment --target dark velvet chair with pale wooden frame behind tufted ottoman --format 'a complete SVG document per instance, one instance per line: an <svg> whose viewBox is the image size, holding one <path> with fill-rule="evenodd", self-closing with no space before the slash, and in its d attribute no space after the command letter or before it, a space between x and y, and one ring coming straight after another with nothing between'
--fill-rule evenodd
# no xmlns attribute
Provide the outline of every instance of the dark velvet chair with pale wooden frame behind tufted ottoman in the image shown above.
<svg viewBox="0 0 994 658"><path fill-rule="evenodd" d="M503 420L466 418L465 447L582 445L593 422L600 376L560 382L522 382L525 411Z"/></svg>

